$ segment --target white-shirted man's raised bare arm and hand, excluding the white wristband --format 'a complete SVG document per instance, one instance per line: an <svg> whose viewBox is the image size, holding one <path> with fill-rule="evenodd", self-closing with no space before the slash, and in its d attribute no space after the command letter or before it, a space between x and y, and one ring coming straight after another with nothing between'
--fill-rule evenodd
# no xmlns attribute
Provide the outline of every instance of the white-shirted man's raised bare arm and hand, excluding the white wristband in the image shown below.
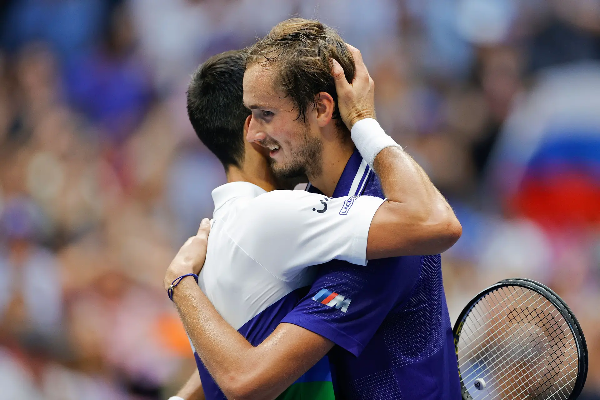
<svg viewBox="0 0 600 400"><path fill-rule="evenodd" d="M352 129L361 119L375 118L374 82L359 50L348 47L356 64L352 84L335 60L333 76L341 118ZM439 254L454 245L462 233L460 222L409 154L399 147L385 148L375 157L373 167L388 201L371 221L367 259Z"/></svg>

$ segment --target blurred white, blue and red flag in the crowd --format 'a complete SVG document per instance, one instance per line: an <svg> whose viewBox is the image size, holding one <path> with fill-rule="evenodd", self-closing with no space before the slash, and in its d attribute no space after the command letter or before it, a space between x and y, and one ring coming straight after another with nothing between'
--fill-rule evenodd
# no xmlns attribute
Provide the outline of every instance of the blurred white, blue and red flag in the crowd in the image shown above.
<svg viewBox="0 0 600 400"><path fill-rule="evenodd" d="M600 223L600 63L540 73L505 122L488 178L509 211L547 228Z"/></svg>

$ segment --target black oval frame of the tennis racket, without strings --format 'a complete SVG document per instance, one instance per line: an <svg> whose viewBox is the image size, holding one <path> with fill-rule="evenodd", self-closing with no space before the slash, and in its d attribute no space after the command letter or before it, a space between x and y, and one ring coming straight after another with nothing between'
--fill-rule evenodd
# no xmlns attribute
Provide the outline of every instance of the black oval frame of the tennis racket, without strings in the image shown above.
<svg viewBox="0 0 600 400"><path fill-rule="evenodd" d="M454 348L457 354L457 363L458 363L458 341L460 340L460 332L463 329L464 321L466 320L469 312L475 307L475 305L483 299L487 294L493 292L502 287L508 286L520 286L530 290L535 291L536 293L541 294L545 297L553 306L555 306L560 314L565 318L567 323L569 324L569 328L571 328L571 332L573 332L573 337L575 338L575 344L577 345L577 359L578 359L578 369L577 369L577 380L575 380L575 386L573 387L573 391L567 400L577 399L581 394L581 390L583 390L583 386L586 383L587 378L587 344L586 338L583 335L583 330L581 330L581 326L575 314L571 311L568 305L564 302L563 299L559 297L558 294L554 293L554 291L547 287L544 284L533 281L533 279L527 278L510 278L503 279L496 284L491 285L488 288L485 288L477 296L473 297L463 311L458 316L456 323L454 324L454 329L452 329L452 333L454 334ZM458 375L460 376L460 369L458 369ZM466 386L464 386L463 378L460 377L460 387L461 393L463 395L463 400L473 400L471 397L469 390L467 390Z"/></svg>

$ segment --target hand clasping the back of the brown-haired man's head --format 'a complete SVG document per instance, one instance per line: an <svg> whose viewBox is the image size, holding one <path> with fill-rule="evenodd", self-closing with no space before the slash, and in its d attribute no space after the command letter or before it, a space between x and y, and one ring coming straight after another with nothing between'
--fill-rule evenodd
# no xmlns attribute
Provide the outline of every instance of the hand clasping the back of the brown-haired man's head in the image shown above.
<svg viewBox="0 0 600 400"><path fill-rule="evenodd" d="M356 47L350 46L350 44L346 43L346 46L352 53L356 66L352 83L348 83L346 80L344 69L340 63L335 59L331 59L331 62L335 91L338 96L338 110L340 110L340 116L344 124L349 130L352 130L354 124L361 121L361 119L375 119L375 83L362 61L361 52Z"/></svg>

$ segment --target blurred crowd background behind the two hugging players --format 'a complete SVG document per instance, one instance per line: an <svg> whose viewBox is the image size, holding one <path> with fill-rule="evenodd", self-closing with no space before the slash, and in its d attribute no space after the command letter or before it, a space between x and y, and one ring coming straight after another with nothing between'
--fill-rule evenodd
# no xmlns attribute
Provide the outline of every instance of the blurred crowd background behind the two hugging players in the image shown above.
<svg viewBox="0 0 600 400"><path fill-rule="evenodd" d="M499 279L550 285L599 399L598 0L0 2L0 399L162 399L193 371L163 273L224 172L185 89L292 15L362 50L379 121L463 224L452 321Z"/></svg>

